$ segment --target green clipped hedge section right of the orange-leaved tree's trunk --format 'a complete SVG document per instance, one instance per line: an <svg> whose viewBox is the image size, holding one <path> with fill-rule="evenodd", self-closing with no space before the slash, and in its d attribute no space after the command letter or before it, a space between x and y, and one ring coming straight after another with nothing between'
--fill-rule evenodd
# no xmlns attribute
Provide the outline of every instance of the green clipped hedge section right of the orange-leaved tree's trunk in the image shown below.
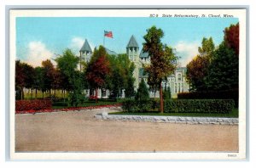
<svg viewBox="0 0 256 168"><path fill-rule="evenodd" d="M164 102L165 113L231 113L233 99L172 99Z"/></svg>

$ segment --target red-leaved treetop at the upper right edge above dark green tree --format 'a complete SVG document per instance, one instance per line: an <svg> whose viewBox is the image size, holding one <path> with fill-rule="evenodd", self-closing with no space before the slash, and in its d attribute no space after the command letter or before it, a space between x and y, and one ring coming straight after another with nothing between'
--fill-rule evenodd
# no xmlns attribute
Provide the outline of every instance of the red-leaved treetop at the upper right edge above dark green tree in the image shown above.
<svg viewBox="0 0 256 168"><path fill-rule="evenodd" d="M224 42L229 48L234 49L237 57L239 55L239 23L230 25L224 30Z"/></svg>

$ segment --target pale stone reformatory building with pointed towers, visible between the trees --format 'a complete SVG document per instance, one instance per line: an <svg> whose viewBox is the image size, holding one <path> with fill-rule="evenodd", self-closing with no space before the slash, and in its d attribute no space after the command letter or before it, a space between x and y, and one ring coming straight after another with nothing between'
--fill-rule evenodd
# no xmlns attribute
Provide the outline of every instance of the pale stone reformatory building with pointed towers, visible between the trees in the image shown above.
<svg viewBox="0 0 256 168"><path fill-rule="evenodd" d="M106 48L108 54L118 55L117 53ZM80 49L80 59L83 59L86 62L90 61L90 57L92 55L92 51L90 48L89 42L85 39L83 47ZM136 68L134 70L133 76L135 78L134 87L137 90L139 86L139 82L143 79L144 81L148 80L148 76L143 72L143 64L150 63L150 57L148 53L143 53L143 50L139 48L137 40L135 36L131 36L127 46L126 46L126 54L129 59L134 62ZM177 70L171 76L167 77L167 81L162 82L162 87L171 88L172 98L177 98L177 93L179 92L189 92L189 83L186 81L186 71L185 67L178 67ZM108 98L109 95L108 90L99 89L98 97L99 98ZM95 95L95 92L88 92L88 95ZM150 97L159 97L159 92L149 92ZM125 95L122 95L124 98Z"/></svg>

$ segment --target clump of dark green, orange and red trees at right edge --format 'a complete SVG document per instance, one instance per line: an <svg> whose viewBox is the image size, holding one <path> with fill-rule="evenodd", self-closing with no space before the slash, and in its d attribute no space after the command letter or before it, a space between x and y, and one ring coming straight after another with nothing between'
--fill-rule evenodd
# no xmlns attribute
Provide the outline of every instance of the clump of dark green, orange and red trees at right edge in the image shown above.
<svg viewBox="0 0 256 168"><path fill-rule="evenodd" d="M225 28L224 42L218 48L211 38L203 38L199 53L187 64L187 80L193 91L238 90L239 24Z"/></svg>

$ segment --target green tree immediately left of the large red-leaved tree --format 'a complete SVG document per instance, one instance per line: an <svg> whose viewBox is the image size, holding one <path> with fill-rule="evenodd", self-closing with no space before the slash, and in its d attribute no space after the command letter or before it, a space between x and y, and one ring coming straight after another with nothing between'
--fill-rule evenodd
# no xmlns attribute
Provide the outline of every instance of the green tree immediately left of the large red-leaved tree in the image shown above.
<svg viewBox="0 0 256 168"><path fill-rule="evenodd" d="M62 79L67 82L68 104L78 106L84 101L83 82L81 73L77 70L79 57L76 57L70 49L66 49L61 57L55 59L57 68L61 70Z"/></svg>

